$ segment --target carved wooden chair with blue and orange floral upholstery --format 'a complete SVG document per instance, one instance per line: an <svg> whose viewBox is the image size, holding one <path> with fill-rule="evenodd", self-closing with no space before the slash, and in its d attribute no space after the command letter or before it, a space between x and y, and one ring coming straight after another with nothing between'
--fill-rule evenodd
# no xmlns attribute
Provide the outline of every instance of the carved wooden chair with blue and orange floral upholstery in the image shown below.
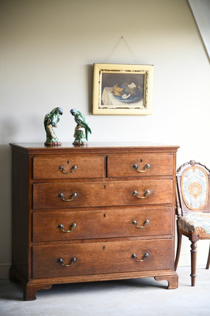
<svg viewBox="0 0 210 316"><path fill-rule="evenodd" d="M177 252L175 271L179 262L182 235L191 241L191 285L196 281L196 241L210 239L210 170L191 160L176 173ZM210 264L210 247L206 269Z"/></svg>

